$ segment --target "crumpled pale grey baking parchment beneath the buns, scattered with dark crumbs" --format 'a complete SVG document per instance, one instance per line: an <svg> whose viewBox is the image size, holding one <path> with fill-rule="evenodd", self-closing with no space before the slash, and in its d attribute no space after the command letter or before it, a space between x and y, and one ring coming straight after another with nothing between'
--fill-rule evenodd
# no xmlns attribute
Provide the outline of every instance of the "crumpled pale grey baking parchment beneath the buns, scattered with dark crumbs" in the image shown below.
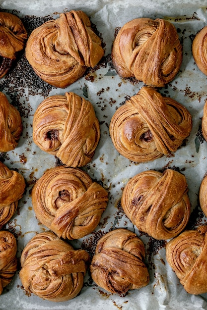
<svg viewBox="0 0 207 310"><path fill-rule="evenodd" d="M139 290L129 291L125 297L110 294L91 280L87 273L80 294L65 303L44 301L27 294L22 288L18 271L0 296L0 310L157 310L157 309L207 309L207 294L188 294L165 259L166 240L157 241L144 234L126 217L120 199L126 183L135 174L148 170L174 168L182 172L188 182L191 201L191 218L186 228L206 224L207 219L198 201L201 181L207 172L207 143L201 134L201 119L207 100L207 77L198 69L192 56L192 40L207 24L207 1L197 0L0 0L0 10L19 16L28 34L49 18L57 18L61 12L83 10L102 38L105 55L101 62L77 82L66 89L59 89L41 81L25 59L19 56L12 70L0 80L0 91L18 108L23 121L23 133L14 151L0 154L0 160L10 169L20 172L27 187L18 209L4 227L13 232L18 244L17 258L28 241L36 234L48 230L40 224L32 208L31 189L45 170L59 164L58 159L41 151L32 141L32 120L39 103L48 96L72 91L89 100L100 122L101 140L91 163L82 169L109 192L109 203L94 232L71 244L82 248L92 256L97 241L110 229L118 227L134 231L146 249L145 263L150 274L149 284ZM44 17L44 18L43 18ZM134 163L115 150L109 135L109 124L116 108L126 99L138 93L142 82L121 79L111 63L111 48L119 27L137 17L164 18L172 22L183 44L183 62L176 78L160 88L164 96L170 96L185 105L193 117L191 135L176 153L152 162Z"/></svg>

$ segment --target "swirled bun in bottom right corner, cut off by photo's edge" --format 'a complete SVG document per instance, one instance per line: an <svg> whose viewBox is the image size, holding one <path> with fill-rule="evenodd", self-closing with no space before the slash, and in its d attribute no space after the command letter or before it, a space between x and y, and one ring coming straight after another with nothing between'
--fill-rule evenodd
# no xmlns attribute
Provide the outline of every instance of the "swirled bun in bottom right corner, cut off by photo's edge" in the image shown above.
<svg viewBox="0 0 207 310"><path fill-rule="evenodd" d="M207 293L207 226L186 230L166 245L166 259L189 294Z"/></svg>

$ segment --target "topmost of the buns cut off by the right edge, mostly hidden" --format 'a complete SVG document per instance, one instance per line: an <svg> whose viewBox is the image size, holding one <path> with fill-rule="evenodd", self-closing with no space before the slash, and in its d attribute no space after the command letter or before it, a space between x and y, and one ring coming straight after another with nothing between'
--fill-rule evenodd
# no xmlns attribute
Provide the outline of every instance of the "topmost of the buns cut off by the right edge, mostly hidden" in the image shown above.
<svg viewBox="0 0 207 310"><path fill-rule="evenodd" d="M194 38L192 53L199 69L207 75L207 26Z"/></svg>

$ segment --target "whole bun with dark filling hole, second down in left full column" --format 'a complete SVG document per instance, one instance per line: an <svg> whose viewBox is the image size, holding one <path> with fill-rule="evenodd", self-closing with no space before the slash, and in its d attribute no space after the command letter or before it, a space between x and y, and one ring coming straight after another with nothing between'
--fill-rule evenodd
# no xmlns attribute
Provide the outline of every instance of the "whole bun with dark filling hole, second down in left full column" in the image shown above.
<svg viewBox="0 0 207 310"><path fill-rule="evenodd" d="M93 105L72 92L46 98L35 111L35 144L64 164L86 165L92 160L99 139L100 126Z"/></svg>

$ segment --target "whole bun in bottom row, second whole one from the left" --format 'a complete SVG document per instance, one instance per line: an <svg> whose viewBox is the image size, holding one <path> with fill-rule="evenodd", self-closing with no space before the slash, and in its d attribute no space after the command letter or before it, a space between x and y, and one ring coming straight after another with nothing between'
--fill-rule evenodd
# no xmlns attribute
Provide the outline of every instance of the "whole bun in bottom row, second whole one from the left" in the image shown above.
<svg viewBox="0 0 207 310"><path fill-rule="evenodd" d="M144 258L144 245L135 233L124 228L113 230L98 241L90 265L92 279L105 290L123 296L148 284Z"/></svg>

